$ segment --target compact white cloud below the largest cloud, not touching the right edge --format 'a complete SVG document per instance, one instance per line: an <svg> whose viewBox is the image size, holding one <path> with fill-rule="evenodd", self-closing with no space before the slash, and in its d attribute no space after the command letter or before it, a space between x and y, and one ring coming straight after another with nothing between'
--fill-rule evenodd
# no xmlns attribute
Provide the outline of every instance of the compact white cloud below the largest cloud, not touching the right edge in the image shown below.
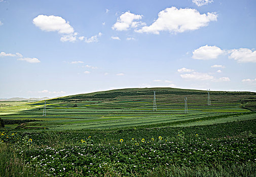
<svg viewBox="0 0 256 177"><path fill-rule="evenodd" d="M198 59L198 60L211 60L211 59L216 59L218 56L224 53L225 52L223 50L221 50L216 46L206 45L193 51L192 58Z"/></svg>

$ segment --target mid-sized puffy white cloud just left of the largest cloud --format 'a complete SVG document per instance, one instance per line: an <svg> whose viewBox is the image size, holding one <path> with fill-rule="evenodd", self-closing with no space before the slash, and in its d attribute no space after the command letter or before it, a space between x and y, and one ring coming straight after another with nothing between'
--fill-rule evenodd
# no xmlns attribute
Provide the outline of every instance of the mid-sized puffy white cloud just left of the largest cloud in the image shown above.
<svg viewBox="0 0 256 177"><path fill-rule="evenodd" d="M142 15L135 15L130 13L130 11L127 11L117 19L117 22L112 26L112 29L118 31L126 31L130 28L136 28L140 25L145 25L145 23L142 23L141 21L135 21L140 20L141 18Z"/></svg>

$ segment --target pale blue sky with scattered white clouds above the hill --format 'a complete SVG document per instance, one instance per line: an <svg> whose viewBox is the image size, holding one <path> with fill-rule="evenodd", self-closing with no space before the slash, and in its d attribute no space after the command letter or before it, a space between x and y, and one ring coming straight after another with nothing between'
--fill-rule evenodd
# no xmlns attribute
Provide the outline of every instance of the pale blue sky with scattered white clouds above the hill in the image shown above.
<svg viewBox="0 0 256 177"><path fill-rule="evenodd" d="M256 92L256 1L0 0L0 98Z"/></svg>

